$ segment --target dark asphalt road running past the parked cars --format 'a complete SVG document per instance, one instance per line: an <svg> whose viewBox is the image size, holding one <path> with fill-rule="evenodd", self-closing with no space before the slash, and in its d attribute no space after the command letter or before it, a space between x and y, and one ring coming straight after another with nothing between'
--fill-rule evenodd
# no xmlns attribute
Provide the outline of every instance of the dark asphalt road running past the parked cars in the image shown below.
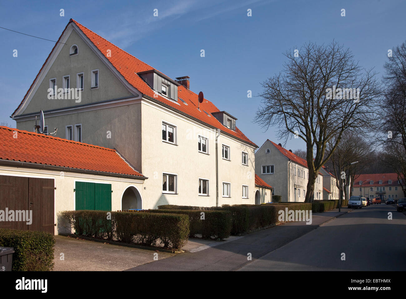
<svg viewBox="0 0 406 299"><path fill-rule="evenodd" d="M385 204L352 210L239 270L405 271L406 216Z"/></svg>

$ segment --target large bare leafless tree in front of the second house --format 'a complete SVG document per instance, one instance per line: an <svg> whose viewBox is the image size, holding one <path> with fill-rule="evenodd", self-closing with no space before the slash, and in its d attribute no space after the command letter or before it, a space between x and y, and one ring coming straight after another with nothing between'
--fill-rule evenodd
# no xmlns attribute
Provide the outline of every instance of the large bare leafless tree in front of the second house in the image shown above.
<svg viewBox="0 0 406 299"><path fill-rule="evenodd" d="M285 57L283 72L262 83L262 105L255 121L264 129L278 127L278 137L285 144L292 136L306 142L305 202L311 202L317 174L343 132L363 129L376 120L380 83L373 70L363 72L352 52L335 41L327 46L308 43L298 52L287 51ZM330 140L335 141L325 155Z"/></svg>

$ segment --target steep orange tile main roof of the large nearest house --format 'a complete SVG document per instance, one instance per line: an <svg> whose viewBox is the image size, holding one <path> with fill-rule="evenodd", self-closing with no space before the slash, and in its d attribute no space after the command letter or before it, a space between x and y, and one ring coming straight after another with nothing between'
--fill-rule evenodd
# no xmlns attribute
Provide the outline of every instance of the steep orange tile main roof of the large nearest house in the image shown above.
<svg viewBox="0 0 406 299"><path fill-rule="evenodd" d="M82 24L79 24L75 20L70 19L68 25L70 24L70 22L73 22L74 24L76 24L79 27L79 29L86 35L86 37L88 37L91 40L91 42L93 42L93 44L97 47L97 49L99 49L100 52L108 59L108 61L110 61L110 63L112 63L114 68L116 68L117 71L120 72L121 75L123 75L124 79L128 83L130 83L132 86L134 86L138 91L142 92L144 95L147 95L150 98L154 98L165 105L168 105L178 111L186 113L188 116L191 116L192 118L200 120L201 122L204 122L205 124L208 124L212 127L220 129L221 131L228 133L234 137L237 137L238 139L240 139L248 144L258 147L254 142L249 140L248 137L246 137L237 127L235 128L235 131L233 131L233 130L228 129L227 127L223 126L214 116L208 116L204 111L207 111L208 113L220 111L209 100L204 99L203 103L200 104L200 110L199 110L197 108L198 98L199 98L198 95L195 94L194 92L190 91L183 85L178 87L178 97L181 98L182 100L185 100L185 102L188 105L185 105L184 103L182 103L179 100L178 100L178 103L174 102L173 100L168 100L167 98L164 98L164 97L160 96L159 94L158 94L158 97L154 97L153 89L151 89L151 87L149 87L149 85L137 74L139 72L155 70L153 67L151 67L147 63L144 63L143 61L140 61L138 58L130 55L129 53L125 52L124 50L122 50L119 47L115 46L114 44L110 43L103 37L97 35L96 33L89 30L88 28L84 27ZM58 39L58 41L59 41L59 39ZM111 50L111 57L110 56L107 57L107 50ZM49 56L48 56L47 60L48 59L49 59ZM41 68L41 70L42 70L42 68ZM40 70L40 72L41 72L41 70ZM158 70L156 70L156 71L158 71ZM160 72L160 73L163 74L162 72ZM27 94L28 94L28 92L27 92ZM27 96L27 94L26 94L26 96ZM24 99L26 98L26 96L24 96ZM22 103L24 102L24 99L22 100L20 105L17 107L17 109L22 105ZM178 105L178 104L180 104L180 105ZM17 109L16 109L16 111L17 111ZM15 111L13 112L13 115L14 115L14 113L15 113Z"/></svg>

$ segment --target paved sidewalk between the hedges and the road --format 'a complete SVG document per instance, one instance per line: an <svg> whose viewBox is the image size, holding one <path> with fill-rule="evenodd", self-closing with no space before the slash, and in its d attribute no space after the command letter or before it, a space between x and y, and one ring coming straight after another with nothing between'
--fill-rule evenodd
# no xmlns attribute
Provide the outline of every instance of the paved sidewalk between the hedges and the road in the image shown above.
<svg viewBox="0 0 406 299"><path fill-rule="evenodd" d="M245 264L260 258L267 253L282 247L283 245L317 229L320 225L327 223L347 212L348 208L342 208L323 213L314 213L312 224L305 222L289 222L277 225L270 229L256 231L243 237L235 237L229 242L218 242L215 247L207 246L204 250L190 252L193 248L204 245L204 240L194 240L190 244L189 252L172 256L152 263L143 264L128 269L127 271L233 271ZM193 248L192 248L193 247ZM251 260L250 260L251 257Z"/></svg>

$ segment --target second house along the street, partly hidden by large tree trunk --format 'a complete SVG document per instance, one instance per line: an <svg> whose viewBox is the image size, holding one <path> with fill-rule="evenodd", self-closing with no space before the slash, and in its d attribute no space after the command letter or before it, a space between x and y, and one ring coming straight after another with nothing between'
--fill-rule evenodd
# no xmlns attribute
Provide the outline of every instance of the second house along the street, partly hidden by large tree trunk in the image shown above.
<svg viewBox="0 0 406 299"><path fill-rule="evenodd" d="M282 201L301 201L306 197L309 169L307 162L269 139L255 153L255 174L273 188L272 195ZM315 182L314 199L323 200L323 175Z"/></svg>

